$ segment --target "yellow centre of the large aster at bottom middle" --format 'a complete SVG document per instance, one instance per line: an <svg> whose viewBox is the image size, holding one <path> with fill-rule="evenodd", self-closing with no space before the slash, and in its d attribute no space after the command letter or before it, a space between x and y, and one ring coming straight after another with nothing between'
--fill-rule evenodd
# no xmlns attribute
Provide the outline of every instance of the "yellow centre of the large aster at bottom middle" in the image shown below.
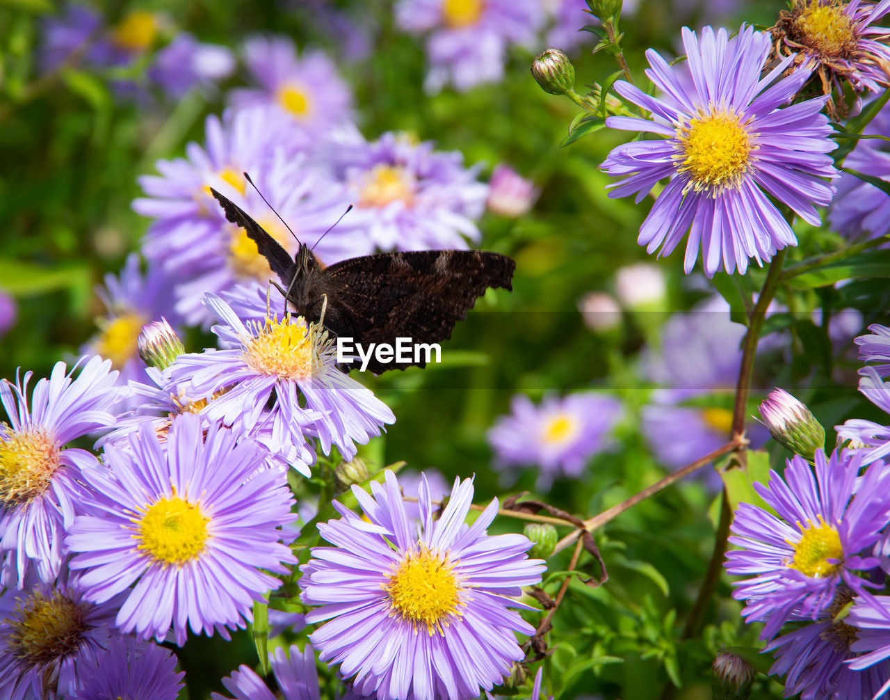
<svg viewBox="0 0 890 700"><path fill-rule="evenodd" d="M462 590L451 570L448 558L421 546L418 554L409 552L394 574L387 574L389 583L382 588L390 598L391 615L401 615L415 630L425 625L430 636L442 634L449 615L460 615L465 604L458 594Z"/></svg>

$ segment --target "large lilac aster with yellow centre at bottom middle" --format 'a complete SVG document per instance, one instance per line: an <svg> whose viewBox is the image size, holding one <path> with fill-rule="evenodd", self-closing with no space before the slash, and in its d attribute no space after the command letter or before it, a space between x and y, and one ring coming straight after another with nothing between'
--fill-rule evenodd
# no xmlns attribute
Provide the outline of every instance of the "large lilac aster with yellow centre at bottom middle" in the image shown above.
<svg viewBox="0 0 890 700"><path fill-rule="evenodd" d="M371 490L373 497L352 486L364 517L334 501L343 517L319 525L334 547L313 548L301 567L301 599L320 606L306 622L328 621L310 636L312 646L354 678L357 692L379 700L458 700L491 690L523 657L514 631L534 632L508 607L533 609L511 597L540 581L544 562L526 558L531 542L521 534L485 533L497 500L465 525L470 479L455 480L435 521L421 484L419 531L391 471Z"/></svg>

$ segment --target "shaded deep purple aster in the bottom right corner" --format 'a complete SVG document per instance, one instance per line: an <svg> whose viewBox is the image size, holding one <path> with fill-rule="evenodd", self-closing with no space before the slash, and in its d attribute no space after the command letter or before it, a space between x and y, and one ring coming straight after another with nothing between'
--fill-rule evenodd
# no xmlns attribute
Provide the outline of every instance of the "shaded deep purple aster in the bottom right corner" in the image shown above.
<svg viewBox="0 0 890 700"><path fill-rule="evenodd" d="M878 697L890 674L890 663L854 671L853 647L861 631L850 622L851 615L837 619L851 598L850 591L840 588L823 620L806 624L764 647L776 657L770 673L786 676L786 697L798 693L807 700Z"/></svg>

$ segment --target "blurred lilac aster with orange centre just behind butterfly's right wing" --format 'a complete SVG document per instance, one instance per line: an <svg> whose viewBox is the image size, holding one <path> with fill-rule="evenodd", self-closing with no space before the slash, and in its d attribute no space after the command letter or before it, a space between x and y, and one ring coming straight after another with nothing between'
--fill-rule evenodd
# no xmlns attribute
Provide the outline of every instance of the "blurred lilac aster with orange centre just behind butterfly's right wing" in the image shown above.
<svg viewBox="0 0 890 700"><path fill-rule="evenodd" d="M355 203L346 218L365 232L364 240L352 237L352 256L374 248L467 248L465 238L479 240L474 219L482 215L489 188L476 179L479 166L464 167L460 152L433 151L433 142L407 134L366 142L354 132L331 155Z"/></svg>

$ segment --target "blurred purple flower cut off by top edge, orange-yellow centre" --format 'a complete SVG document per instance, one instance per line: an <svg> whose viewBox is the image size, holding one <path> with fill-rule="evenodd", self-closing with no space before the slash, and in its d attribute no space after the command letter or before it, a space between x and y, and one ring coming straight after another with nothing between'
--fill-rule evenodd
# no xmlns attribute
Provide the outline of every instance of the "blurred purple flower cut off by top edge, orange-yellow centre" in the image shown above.
<svg viewBox="0 0 890 700"><path fill-rule="evenodd" d="M539 0L400 0L395 12L401 28L428 34L427 93L497 83L507 46L533 45L544 20Z"/></svg>

